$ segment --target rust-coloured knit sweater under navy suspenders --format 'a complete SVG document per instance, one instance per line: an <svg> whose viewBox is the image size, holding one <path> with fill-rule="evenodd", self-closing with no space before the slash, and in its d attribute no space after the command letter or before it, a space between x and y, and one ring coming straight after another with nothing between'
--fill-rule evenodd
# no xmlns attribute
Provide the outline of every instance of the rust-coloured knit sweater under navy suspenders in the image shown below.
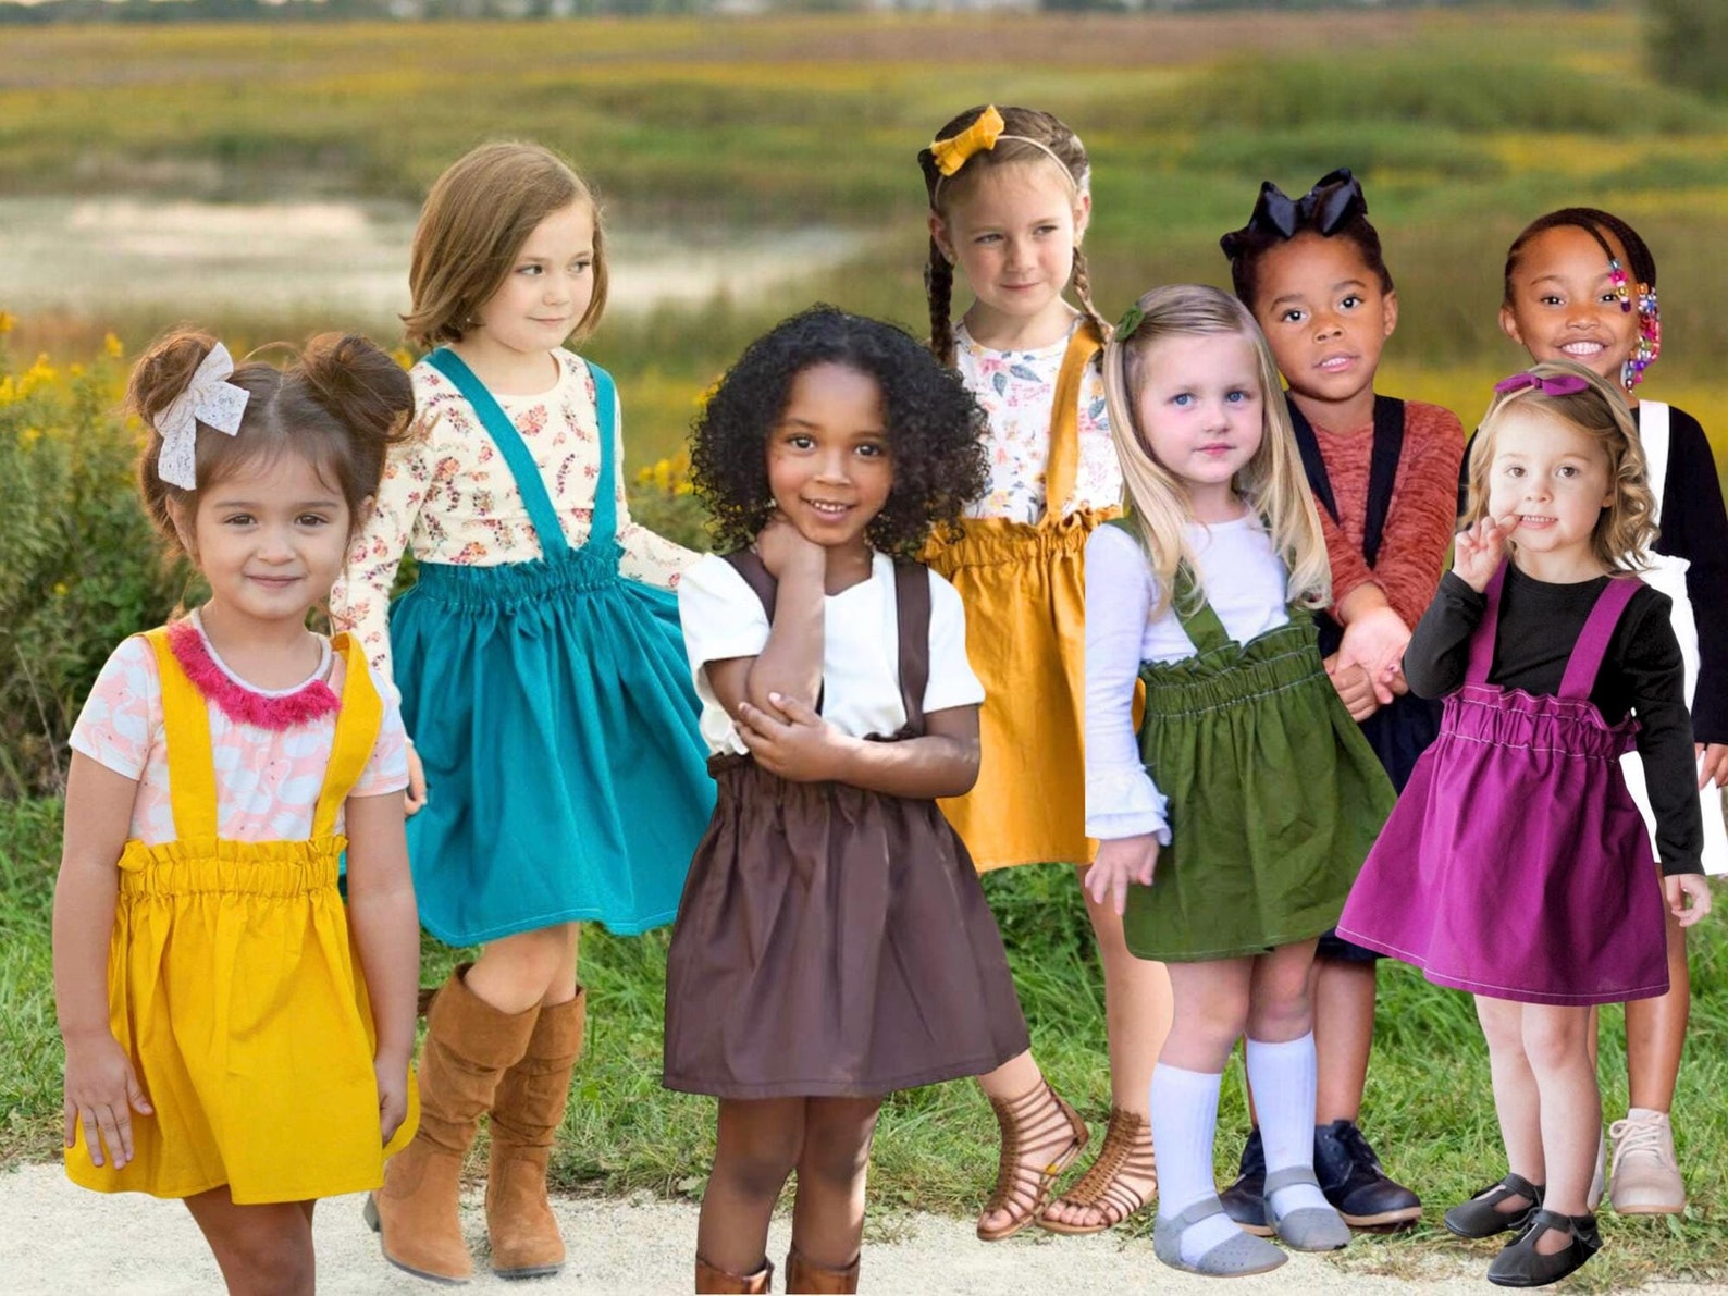
<svg viewBox="0 0 1728 1296"><path fill-rule="evenodd" d="M1317 423L1313 432L1343 518L1332 522L1332 515L1320 506L1325 553L1332 562L1332 610L1351 591L1372 581L1386 593L1386 601L1405 626L1414 629L1439 588L1446 548L1458 520L1455 510L1464 425L1455 413L1438 404L1405 403L1403 451L1374 567L1362 556L1374 423L1346 432L1332 432Z"/></svg>

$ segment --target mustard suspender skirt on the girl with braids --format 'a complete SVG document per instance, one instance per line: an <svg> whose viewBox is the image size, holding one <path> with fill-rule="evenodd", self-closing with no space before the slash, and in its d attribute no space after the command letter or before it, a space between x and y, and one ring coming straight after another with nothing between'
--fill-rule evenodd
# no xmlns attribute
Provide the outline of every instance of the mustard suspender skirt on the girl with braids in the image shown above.
<svg viewBox="0 0 1728 1296"><path fill-rule="evenodd" d="M1080 463L1080 378L1102 340L1082 320L1063 354L1051 413L1044 517L966 518L924 562L966 605L966 655L985 688L978 785L940 802L980 873L1044 861L1090 862L1085 835L1085 579L1092 529L1116 510L1063 515Z"/></svg>

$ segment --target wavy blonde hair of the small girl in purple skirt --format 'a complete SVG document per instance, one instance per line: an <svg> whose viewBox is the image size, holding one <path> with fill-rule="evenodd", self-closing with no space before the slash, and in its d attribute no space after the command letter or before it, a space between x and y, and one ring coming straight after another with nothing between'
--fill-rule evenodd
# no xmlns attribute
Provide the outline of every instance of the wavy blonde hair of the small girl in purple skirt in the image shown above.
<svg viewBox="0 0 1728 1296"><path fill-rule="evenodd" d="M1531 365L1528 373L1536 378L1583 378L1585 389L1566 396L1550 396L1536 385L1495 392L1471 449L1464 525L1474 527L1488 513L1488 473L1507 410L1540 410L1588 437L1607 456L1614 503L1602 510L1590 532L1590 553L1609 572L1643 570L1650 565L1647 551L1655 543L1655 496L1650 491L1638 425L1626 399L1600 373L1569 359Z"/></svg>

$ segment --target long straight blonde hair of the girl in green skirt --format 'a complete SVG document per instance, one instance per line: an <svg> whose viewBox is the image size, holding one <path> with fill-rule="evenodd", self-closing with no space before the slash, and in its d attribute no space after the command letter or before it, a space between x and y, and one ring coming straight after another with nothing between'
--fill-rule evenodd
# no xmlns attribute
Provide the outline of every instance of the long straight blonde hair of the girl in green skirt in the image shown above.
<svg viewBox="0 0 1728 1296"><path fill-rule="evenodd" d="M1206 337L1232 334L1255 346L1260 366L1261 425L1260 448L1242 465L1232 482L1242 501L1260 517L1272 536L1272 548L1289 572L1287 598L1301 607L1318 608L1332 600L1332 569L1325 556L1320 515L1308 491L1308 479L1296 449L1279 366L1272 349L1255 323L1255 316L1236 297L1199 283L1173 283L1153 289L1135 302L1144 318L1118 330L1104 347L1104 392L1109 399L1109 434L1121 460L1121 479L1130 505L1130 525L1153 565L1158 584L1151 615L1159 615L1175 593L1177 569L1187 565L1194 577L1194 601L1201 601L1201 574L1189 548L1185 527L1194 520L1187 491L1165 465L1153 458L1140 435L1137 391L1146 370L1146 356L1170 337ZM1134 311L1130 311L1132 318Z"/></svg>

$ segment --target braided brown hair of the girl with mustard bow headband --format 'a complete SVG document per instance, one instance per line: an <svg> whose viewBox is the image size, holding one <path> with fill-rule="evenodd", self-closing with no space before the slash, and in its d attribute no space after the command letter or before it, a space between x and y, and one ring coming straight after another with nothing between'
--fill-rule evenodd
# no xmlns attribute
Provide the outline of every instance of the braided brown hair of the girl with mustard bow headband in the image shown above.
<svg viewBox="0 0 1728 1296"><path fill-rule="evenodd" d="M950 118L937 131L938 140L959 135L978 121L988 105L978 104ZM924 195L930 199L930 211L942 219L949 218L956 202L962 202L978 176L999 166L1025 166L1028 162L1056 168L1078 202L1082 194L1092 192L1092 162L1087 161L1085 145L1061 118L1037 109L1014 107L1013 104L997 109L1002 114L1002 137L994 149L980 149L968 157L959 171L943 176L937 166L933 149L918 154L918 166L924 173ZM1092 276L1087 270L1085 252L1080 251L1080 237L1075 237L1075 259L1068 271L1068 285L1080 299L1080 311L1097 327L1099 337L1109 337L1109 323L1092 304ZM930 261L924 264L924 299L930 306L930 349L949 368L954 366L954 325L950 320L954 297L954 266L942 254L935 237L930 240Z"/></svg>

